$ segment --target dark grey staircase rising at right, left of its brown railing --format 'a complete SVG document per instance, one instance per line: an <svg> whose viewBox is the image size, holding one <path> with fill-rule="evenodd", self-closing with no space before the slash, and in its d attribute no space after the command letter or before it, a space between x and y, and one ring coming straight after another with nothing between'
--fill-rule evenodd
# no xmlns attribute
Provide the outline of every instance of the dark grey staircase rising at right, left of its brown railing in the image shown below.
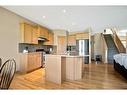
<svg viewBox="0 0 127 95"><path fill-rule="evenodd" d="M104 34L104 38L108 47L107 57L108 63L113 63L113 56L118 54L119 51L115 45L114 39L111 34Z"/></svg>

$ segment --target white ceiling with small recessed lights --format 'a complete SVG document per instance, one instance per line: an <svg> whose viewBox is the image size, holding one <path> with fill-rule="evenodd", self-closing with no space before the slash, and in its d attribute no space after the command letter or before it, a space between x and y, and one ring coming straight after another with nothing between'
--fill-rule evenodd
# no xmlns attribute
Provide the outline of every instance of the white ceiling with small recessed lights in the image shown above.
<svg viewBox="0 0 127 95"><path fill-rule="evenodd" d="M127 6L4 6L4 8L50 29L69 32L91 27L127 29Z"/></svg>

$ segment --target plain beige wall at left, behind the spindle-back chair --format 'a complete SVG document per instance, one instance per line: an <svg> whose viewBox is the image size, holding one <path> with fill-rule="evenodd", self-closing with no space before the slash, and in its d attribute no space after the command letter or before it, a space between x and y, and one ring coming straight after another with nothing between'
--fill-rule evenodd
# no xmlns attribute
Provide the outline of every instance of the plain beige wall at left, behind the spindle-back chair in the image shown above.
<svg viewBox="0 0 127 95"><path fill-rule="evenodd" d="M3 62L9 58L14 58L17 63L17 70L19 69L19 23L22 21L29 22L0 7L0 58L2 58Z"/></svg>

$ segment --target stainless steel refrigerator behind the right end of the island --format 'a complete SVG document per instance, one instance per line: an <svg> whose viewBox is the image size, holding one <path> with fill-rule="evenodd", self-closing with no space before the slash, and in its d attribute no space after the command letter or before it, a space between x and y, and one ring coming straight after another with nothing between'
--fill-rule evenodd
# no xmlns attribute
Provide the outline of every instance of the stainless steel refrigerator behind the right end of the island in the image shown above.
<svg viewBox="0 0 127 95"><path fill-rule="evenodd" d="M84 56L84 63L89 63L89 39L76 40L76 51L79 56Z"/></svg>

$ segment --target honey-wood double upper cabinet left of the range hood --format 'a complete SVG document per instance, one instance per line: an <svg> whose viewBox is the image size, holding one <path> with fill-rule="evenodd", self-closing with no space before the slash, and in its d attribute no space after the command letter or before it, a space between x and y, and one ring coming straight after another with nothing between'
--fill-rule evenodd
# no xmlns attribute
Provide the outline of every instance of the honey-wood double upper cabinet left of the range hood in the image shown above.
<svg viewBox="0 0 127 95"><path fill-rule="evenodd" d="M21 43L32 43L32 44L38 44L38 32L37 27L34 27L30 24L21 23L20 24L20 42Z"/></svg>

